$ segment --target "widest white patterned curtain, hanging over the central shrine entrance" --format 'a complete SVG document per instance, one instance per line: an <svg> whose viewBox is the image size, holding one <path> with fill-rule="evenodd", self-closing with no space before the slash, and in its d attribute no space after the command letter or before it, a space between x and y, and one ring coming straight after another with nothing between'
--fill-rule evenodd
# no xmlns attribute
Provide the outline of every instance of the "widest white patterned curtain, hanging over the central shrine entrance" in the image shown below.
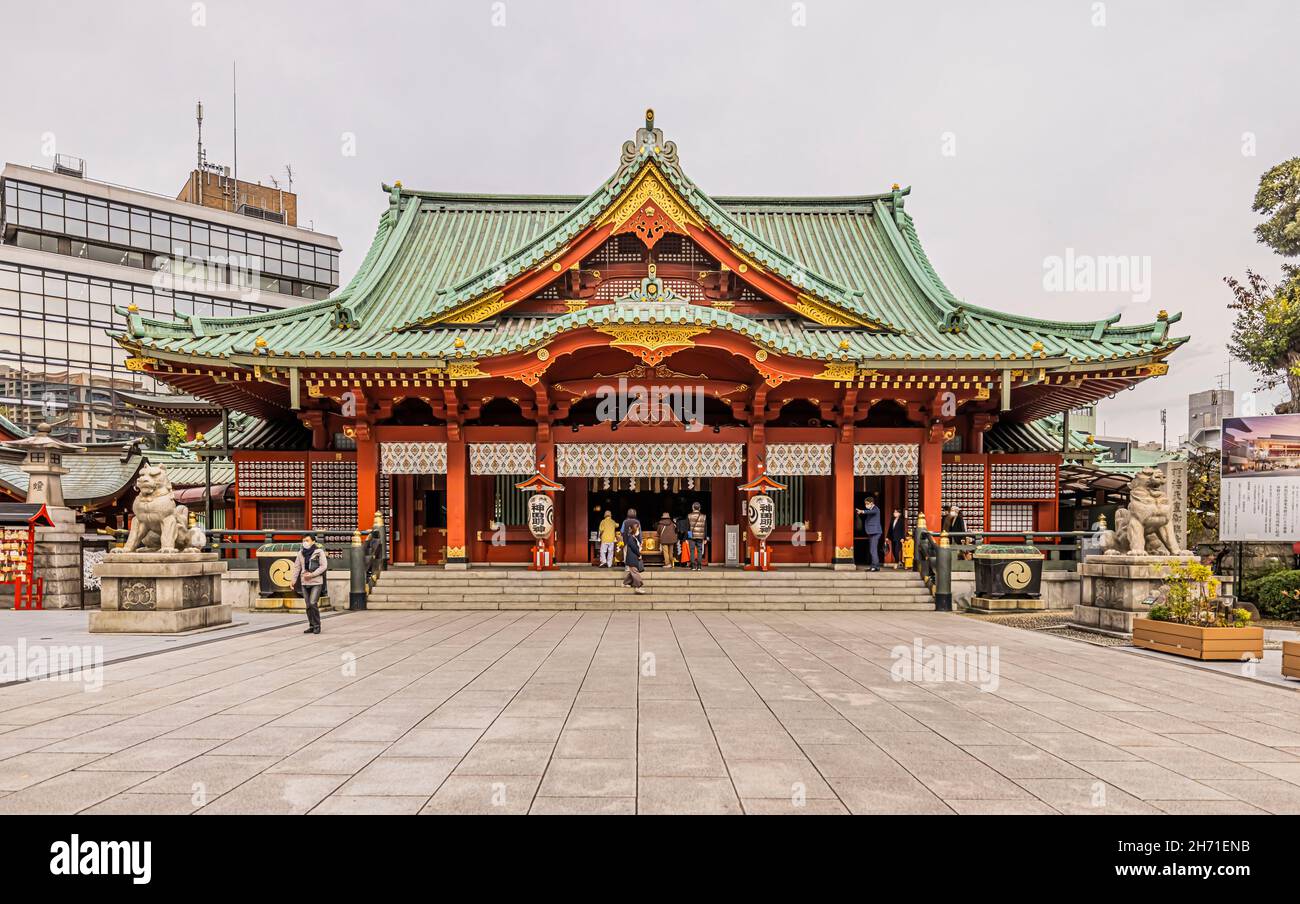
<svg viewBox="0 0 1300 904"><path fill-rule="evenodd" d="M559 477L740 477L741 442L569 442L555 446Z"/></svg>

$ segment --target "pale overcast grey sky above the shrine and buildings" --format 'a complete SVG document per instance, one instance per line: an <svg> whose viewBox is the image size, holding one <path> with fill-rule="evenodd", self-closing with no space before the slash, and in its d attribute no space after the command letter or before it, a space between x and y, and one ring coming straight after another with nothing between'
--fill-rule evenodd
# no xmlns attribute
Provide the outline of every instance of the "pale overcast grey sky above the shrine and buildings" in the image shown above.
<svg viewBox="0 0 1300 904"><path fill-rule="evenodd" d="M4 0L0 21L0 159L174 195L196 100L208 160L234 161L234 66L239 177L291 165L344 281L381 182L585 195L653 107L708 194L911 186L972 304L1180 311L1170 373L1104 401L1098 433L1160 441L1167 408L1173 444L1188 393L1231 385L1242 414L1254 388L1222 280L1280 273L1251 203L1300 153L1294 0Z"/></svg>

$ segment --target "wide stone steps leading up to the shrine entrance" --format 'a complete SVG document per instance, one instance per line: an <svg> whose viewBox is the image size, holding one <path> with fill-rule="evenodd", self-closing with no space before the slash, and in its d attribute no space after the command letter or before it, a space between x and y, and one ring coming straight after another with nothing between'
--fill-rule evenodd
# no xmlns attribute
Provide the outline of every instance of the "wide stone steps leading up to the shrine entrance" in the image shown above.
<svg viewBox="0 0 1300 904"><path fill-rule="evenodd" d="M646 593L623 587L623 570L484 567L465 571L393 567L370 591L369 609L802 609L933 610L911 571L712 566L646 568Z"/></svg>

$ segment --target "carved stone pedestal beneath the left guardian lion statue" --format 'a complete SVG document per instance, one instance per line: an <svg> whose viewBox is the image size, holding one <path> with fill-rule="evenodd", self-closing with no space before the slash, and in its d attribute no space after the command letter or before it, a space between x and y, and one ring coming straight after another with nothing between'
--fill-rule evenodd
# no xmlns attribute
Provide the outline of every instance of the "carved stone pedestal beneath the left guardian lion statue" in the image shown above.
<svg viewBox="0 0 1300 904"><path fill-rule="evenodd" d="M100 610L91 633L179 633L230 623L216 553L112 553L95 566Z"/></svg>

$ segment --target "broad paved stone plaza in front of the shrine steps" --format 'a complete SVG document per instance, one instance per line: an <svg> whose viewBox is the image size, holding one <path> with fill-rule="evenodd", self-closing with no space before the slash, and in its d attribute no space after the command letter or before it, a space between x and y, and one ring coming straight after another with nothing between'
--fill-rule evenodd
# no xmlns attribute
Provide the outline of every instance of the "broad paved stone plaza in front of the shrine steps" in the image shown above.
<svg viewBox="0 0 1300 904"><path fill-rule="evenodd" d="M0 688L0 812L1300 813L1300 692L944 613L351 613Z"/></svg>

